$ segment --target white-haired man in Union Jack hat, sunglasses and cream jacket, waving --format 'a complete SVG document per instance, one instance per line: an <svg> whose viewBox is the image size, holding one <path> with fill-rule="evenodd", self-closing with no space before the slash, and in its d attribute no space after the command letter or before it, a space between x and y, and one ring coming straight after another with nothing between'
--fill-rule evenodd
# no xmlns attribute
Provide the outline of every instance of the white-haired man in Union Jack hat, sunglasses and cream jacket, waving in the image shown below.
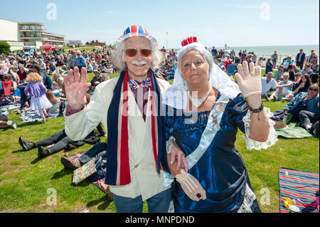
<svg viewBox="0 0 320 227"><path fill-rule="evenodd" d="M116 46L114 63L122 73L97 85L86 107L90 83L85 68L81 79L78 68L65 76L65 132L71 139L83 139L102 122L108 134L105 184L117 212L142 212L146 201L149 212L164 213L171 187L164 186L164 170L169 169L160 97L170 84L151 70L159 65L161 53L145 28L129 26Z"/></svg>

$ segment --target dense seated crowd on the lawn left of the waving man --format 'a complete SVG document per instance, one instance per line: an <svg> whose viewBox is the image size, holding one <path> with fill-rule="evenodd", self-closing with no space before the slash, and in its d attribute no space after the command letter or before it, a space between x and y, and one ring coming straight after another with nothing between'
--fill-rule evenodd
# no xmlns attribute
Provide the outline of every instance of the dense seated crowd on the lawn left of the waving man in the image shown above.
<svg viewBox="0 0 320 227"><path fill-rule="evenodd" d="M110 45L87 52L55 49L33 56L26 56L21 51L0 55L0 107L18 101L19 113L22 110L38 110L43 123L46 122L46 117L63 115L67 102L63 78L68 74L68 70L78 66L78 68L87 68L88 73L94 72L97 81L92 83L91 92L93 93L95 85L109 79L108 74L117 72L110 58L113 50L114 48ZM32 73L36 73L41 79ZM41 101L37 100L43 95L46 97L41 98ZM31 103L32 100L37 101L36 106L35 103ZM39 102L43 102L41 107L38 106ZM8 125L11 126L4 123L2 127ZM14 128L16 128L16 122L14 122Z"/></svg>

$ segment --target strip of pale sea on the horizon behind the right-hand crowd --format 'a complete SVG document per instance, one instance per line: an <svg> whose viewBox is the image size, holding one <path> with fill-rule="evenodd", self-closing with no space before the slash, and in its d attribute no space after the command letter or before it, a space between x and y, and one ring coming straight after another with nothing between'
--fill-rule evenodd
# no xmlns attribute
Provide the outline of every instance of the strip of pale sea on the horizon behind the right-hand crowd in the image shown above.
<svg viewBox="0 0 320 227"><path fill-rule="evenodd" d="M218 51L225 49L225 47L215 47ZM235 54L238 55L240 51L255 52L257 57L270 58L274 51L277 51L279 60L291 56L293 59L297 56L300 49L304 50L306 56L309 56L311 50L316 51L316 55L319 56L319 44L318 45L296 45L296 46L228 46L226 49L232 51L235 50ZM207 48L211 51L212 48ZM169 49L171 50L171 49ZM178 49L175 49L178 51Z"/></svg>

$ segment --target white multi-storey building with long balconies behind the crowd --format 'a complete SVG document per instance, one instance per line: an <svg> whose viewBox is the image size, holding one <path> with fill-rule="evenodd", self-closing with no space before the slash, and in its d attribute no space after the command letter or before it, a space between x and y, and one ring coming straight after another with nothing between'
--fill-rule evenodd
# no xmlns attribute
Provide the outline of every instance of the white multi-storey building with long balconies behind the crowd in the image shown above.
<svg viewBox="0 0 320 227"><path fill-rule="evenodd" d="M45 26L44 23L0 19L0 41L9 43L11 51L22 50L23 46L40 48L46 43L65 46L65 36L48 33Z"/></svg>

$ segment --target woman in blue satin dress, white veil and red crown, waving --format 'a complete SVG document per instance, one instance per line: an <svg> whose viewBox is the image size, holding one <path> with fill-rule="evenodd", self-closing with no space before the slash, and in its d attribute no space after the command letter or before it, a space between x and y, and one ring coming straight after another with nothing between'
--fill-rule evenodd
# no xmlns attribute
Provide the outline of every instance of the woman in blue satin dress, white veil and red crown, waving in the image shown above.
<svg viewBox="0 0 320 227"><path fill-rule="evenodd" d="M171 161L168 154L166 183L172 182L175 211L260 212L235 139L239 128L247 149L277 142L272 113L262 105L261 68L255 73L253 63L239 64L237 85L196 37L182 44L174 83L163 101L167 152L181 149L186 155L179 168L181 159Z"/></svg>

